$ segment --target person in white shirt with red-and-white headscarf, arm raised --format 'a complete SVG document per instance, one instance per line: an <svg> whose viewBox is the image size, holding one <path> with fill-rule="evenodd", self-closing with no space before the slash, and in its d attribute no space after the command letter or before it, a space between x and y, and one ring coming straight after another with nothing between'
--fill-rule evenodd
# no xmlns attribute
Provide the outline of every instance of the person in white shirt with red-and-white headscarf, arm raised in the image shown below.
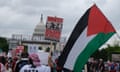
<svg viewBox="0 0 120 72"><path fill-rule="evenodd" d="M51 57L48 57L48 66L41 65L40 59L37 54L33 53L29 56L29 63L28 65L25 65L20 72L51 72Z"/></svg>

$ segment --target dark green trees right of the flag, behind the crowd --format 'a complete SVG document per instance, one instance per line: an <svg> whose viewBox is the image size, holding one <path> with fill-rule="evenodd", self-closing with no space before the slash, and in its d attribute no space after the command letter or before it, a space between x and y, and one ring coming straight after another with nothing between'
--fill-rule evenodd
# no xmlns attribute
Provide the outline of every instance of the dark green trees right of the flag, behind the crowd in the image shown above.
<svg viewBox="0 0 120 72"><path fill-rule="evenodd" d="M120 54L120 46L118 44L115 44L114 46L108 45L107 48L97 50L92 54L92 57L94 57L95 59L102 58L104 61L107 61L107 60L111 60L112 53Z"/></svg>

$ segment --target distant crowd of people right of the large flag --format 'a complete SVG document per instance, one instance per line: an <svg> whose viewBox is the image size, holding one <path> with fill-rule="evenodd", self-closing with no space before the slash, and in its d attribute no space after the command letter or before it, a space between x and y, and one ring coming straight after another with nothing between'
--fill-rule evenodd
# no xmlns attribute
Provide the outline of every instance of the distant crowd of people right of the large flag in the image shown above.
<svg viewBox="0 0 120 72"><path fill-rule="evenodd" d="M86 64L85 72L120 72L120 62L104 62L103 59L91 58Z"/></svg>

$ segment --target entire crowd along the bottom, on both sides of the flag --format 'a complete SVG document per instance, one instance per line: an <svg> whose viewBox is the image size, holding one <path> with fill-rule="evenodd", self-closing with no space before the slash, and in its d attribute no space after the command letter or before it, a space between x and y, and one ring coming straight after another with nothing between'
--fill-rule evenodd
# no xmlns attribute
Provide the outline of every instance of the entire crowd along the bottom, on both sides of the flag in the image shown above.
<svg viewBox="0 0 120 72"><path fill-rule="evenodd" d="M48 56L48 64L42 65L36 53L22 52L15 57L0 56L0 72L61 72L57 59ZM120 72L119 62L104 62L103 59L90 58L84 72Z"/></svg>

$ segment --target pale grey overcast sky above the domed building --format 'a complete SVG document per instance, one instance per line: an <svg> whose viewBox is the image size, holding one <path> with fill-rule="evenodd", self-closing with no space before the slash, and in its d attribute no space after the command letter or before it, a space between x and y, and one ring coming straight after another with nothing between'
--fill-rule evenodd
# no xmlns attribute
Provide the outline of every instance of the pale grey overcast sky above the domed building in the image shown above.
<svg viewBox="0 0 120 72"><path fill-rule="evenodd" d="M101 9L117 32L120 29L120 0L0 0L0 36L32 35L41 13L64 18L62 36L69 36L84 12L93 4Z"/></svg>

